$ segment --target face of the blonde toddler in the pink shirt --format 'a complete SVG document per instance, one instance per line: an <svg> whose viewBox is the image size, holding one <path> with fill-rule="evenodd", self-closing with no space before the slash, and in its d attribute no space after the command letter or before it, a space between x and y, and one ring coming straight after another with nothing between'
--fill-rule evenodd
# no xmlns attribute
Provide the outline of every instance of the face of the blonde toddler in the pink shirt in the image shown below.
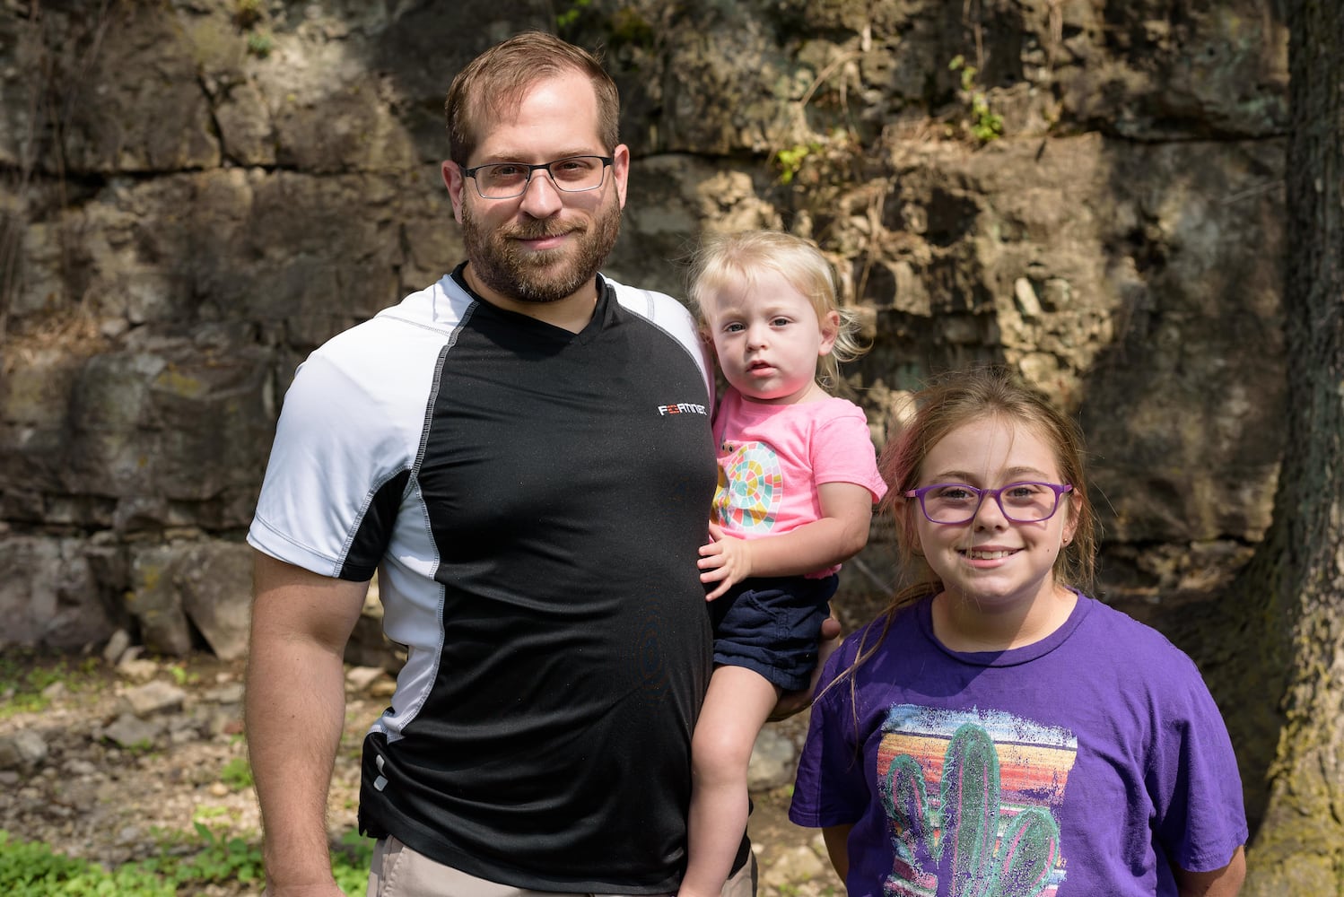
<svg viewBox="0 0 1344 897"><path fill-rule="evenodd" d="M840 316L818 320L812 302L777 271L734 283L702 302L723 376L749 399L770 404L809 400L817 359L835 345Z"/></svg>

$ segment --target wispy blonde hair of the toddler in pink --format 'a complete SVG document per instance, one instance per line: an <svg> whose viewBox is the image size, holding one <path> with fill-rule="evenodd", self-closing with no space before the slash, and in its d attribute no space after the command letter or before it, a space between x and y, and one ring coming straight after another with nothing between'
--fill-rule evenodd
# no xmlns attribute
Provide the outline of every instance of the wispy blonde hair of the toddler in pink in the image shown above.
<svg viewBox="0 0 1344 897"><path fill-rule="evenodd" d="M835 267L813 243L784 231L742 231L707 234L691 256L687 297L691 310L704 325L703 306L714 293L755 282L765 271L775 271L793 289L808 297L817 321L835 312L840 316L835 345L818 360L817 380L828 389L840 383L840 364L868 350L859 340L859 316L840 305L840 279Z"/></svg>

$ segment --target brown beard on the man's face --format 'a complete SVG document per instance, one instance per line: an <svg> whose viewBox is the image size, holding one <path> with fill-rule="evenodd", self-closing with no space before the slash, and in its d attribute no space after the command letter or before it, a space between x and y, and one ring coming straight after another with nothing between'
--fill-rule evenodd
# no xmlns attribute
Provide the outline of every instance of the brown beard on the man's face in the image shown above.
<svg viewBox="0 0 1344 897"><path fill-rule="evenodd" d="M621 204L614 189L590 220L564 222L556 215L495 230L473 218L470 203L462 203L462 243L473 274L516 302L559 302L578 293L597 277L620 231ZM530 252L515 243L560 234L569 234L573 244Z"/></svg>

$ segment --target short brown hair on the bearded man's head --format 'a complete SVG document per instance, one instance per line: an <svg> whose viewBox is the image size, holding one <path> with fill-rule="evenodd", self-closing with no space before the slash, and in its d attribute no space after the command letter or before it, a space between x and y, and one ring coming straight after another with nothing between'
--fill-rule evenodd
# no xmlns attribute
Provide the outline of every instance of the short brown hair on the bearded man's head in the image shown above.
<svg viewBox="0 0 1344 897"><path fill-rule="evenodd" d="M620 142L621 98L593 54L544 31L524 31L495 44L457 73L448 89L448 152L465 167L478 142L480 122L507 117L536 82L570 71L587 75L597 97L598 138L606 152Z"/></svg>

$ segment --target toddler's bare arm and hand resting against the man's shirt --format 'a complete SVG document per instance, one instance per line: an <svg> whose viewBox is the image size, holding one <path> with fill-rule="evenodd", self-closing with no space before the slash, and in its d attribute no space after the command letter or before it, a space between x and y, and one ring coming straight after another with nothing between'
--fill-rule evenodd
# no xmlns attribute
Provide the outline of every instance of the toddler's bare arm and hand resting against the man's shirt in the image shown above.
<svg viewBox="0 0 1344 897"><path fill-rule="evenodd" d="M710 524L708 545L700 547L700 581L718 583L714 600L749 576L801 576L833 567L859 553L868 541L872 493L847 482L817 487L821 518L780 536L737 538Z"/></svg>

